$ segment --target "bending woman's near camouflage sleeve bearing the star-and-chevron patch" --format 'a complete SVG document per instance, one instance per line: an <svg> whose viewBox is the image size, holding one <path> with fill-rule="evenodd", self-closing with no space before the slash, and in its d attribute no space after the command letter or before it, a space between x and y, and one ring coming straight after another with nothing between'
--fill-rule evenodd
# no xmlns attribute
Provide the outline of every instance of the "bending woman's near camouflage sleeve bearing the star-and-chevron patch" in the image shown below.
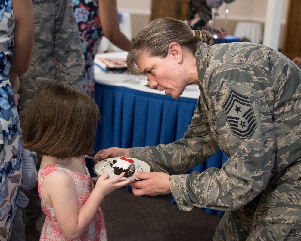
<svg viewBox="0 0 301 241"><path fill-rule="evenodd" d="M207 70L201 95L229 159L221 169L170 177L180 209L236 210L265 189L275 160L271 79L267 68L248 64Z"/></svg>

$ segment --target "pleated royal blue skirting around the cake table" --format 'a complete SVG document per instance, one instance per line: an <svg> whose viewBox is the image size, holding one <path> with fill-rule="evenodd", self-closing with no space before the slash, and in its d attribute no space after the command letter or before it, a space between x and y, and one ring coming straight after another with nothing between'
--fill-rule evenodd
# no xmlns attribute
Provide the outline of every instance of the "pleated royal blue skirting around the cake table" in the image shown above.
<svg viewBox="0 0 301 241"><path fill-rule="evenodd" d="M172 99L161 95L95 83L95 101L101 114L95 152L109 147L139 147L168 144L183 137L191 122L197 99ZM191 171L220 168L227 160L221 151ZM93 172L94 163L88 163ZM93 175L93 173L92 173ZM215 213L213 210L206 210ZM218 211L217 214L222 215Z"/></svg>

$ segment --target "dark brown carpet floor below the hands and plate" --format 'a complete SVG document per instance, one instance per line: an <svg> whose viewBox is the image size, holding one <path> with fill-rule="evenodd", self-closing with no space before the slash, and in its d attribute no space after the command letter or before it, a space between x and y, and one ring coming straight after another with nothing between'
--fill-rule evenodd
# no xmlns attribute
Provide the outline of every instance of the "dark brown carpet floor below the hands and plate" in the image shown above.
<svg viewBox="0 0 301 241"><path fill-rule="evenodd" d="M101 204L109 241L211 241L220 217L203 209L180 211L172 196L136 197L125 187L117 189ZM40 231L44 214L38 219ZM27 230L29 231L29 230ZM33 235L31 229L30 234ZM27 241L39 240L27 236Z"/></svg>

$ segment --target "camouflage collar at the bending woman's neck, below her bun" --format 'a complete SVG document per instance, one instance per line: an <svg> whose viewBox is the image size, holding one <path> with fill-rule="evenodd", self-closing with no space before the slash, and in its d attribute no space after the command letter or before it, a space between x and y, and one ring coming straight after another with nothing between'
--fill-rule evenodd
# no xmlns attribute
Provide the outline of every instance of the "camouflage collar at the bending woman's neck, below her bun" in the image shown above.
<svg viewBox="0 0 301 241"><path fill-rule="evenodd" d="M209 52L210 46L204 42L199 41L195 51L195 60L197 63L197 75L199 77L200 83L203 86L203 80L205 72L209 63Z"/></svg>

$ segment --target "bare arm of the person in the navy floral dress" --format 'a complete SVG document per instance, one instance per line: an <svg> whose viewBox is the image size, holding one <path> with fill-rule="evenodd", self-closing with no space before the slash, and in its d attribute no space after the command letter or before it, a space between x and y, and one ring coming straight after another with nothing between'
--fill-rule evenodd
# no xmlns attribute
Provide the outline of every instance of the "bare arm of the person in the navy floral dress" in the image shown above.
<svg viewBox="0 0 301 241"><path fill-rule="evenodd" d="M125 51L131 49L131 41L121 33L116 0L98 0L99 18L104 36Z"/></svg>

